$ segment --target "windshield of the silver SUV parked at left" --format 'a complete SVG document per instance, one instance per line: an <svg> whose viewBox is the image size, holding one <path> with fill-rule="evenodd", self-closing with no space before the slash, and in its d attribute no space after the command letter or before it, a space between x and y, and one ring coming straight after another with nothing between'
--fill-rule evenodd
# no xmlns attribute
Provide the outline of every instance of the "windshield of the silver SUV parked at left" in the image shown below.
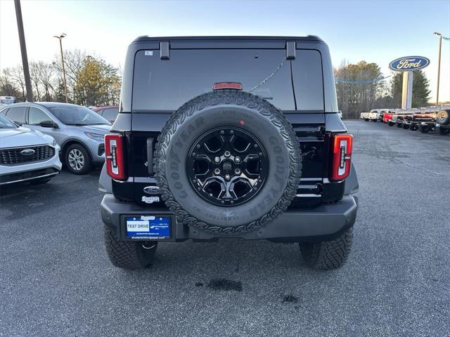
<svg viewBox="0 0 450 337"><path fill-rule="evenodd" d="M87 107L77 105L59 105L48 107L49 110L66 125L96 125L110 122Z"/></svg>

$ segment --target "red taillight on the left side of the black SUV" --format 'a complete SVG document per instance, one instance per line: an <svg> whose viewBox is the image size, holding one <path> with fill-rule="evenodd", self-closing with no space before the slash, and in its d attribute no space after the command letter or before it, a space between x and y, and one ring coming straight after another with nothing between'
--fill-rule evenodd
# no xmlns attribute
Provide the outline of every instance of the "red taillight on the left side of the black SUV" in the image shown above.
<svg viewBox="0 0 450 337"><path fill-rule="evenodd" d="M105 135L106 171L116 180L125 180L124 136L117 133Z"/></svg>

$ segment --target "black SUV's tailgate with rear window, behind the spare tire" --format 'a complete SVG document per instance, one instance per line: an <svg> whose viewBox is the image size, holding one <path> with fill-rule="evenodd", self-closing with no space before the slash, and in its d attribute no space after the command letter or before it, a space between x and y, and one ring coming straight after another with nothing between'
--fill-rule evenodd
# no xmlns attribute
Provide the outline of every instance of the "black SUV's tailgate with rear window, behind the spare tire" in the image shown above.
<svg viewBox="0 0 450 337"><path fill-rule="evenodd" d="M239 82L245 91L251 91L277 70L285 60L285 53L285 48L171 49L167 60L160 58L159 49L138 51L129 140L134 200L141 201L146 195L143 188L155 184L147 157L148 145L155 146L162 126L174 110L211 91L217 82ZM295 60L286 60L253 93L283 110L293 124L303 153L298 197L301 204L320 203L323 177L328 177L321 53L297 50Z"/></svg>

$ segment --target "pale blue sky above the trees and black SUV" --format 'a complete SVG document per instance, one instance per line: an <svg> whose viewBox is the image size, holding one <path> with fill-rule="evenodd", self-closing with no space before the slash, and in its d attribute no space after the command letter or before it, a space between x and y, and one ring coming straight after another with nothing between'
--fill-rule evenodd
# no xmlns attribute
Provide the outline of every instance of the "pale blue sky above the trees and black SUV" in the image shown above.
<svg viewBox="0 0 450 337"><path fill-rule="evenodd" d="M333 65L401 56L430 58L425 73L436 97L437 46L433 32L450 37L450 0L442 1L22 1L29 60L51 62L53 35L64 48L79 48L122 65L128 44L140 35L318 35L330 46ZM12 0L0 0L0 68L20 64ZM442 41L439 100L450 100L450 41Z"/></svg>

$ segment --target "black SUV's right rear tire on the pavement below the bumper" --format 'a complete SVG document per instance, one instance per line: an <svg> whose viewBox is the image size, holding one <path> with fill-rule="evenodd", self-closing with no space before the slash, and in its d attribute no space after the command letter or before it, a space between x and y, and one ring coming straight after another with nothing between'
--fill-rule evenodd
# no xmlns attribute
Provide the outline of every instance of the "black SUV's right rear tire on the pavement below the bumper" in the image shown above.
<svg viewBox="0 0 450 337"><path fill-rule="evenodd" d="M353 227L332 241L303 243L300 252L304 262L313 269L333 270L342 267L352 248Z"/></svg>

